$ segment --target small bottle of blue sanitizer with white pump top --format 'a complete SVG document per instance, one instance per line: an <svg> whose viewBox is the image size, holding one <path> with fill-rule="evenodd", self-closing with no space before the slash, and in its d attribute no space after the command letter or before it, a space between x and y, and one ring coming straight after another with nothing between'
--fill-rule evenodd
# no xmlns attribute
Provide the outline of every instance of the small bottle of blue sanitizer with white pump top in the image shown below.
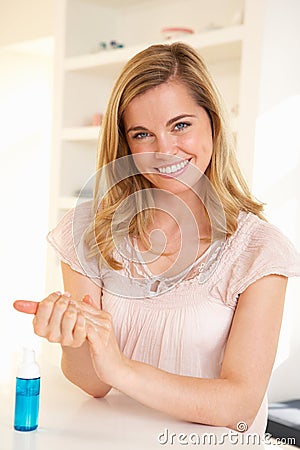
<svg viewBox="0 0 300 450"><path fill-rule="evenodd" d="M15 430L33 431L38 427L39 402L40 369L34 350L24 349L16 379Z"/></svg>

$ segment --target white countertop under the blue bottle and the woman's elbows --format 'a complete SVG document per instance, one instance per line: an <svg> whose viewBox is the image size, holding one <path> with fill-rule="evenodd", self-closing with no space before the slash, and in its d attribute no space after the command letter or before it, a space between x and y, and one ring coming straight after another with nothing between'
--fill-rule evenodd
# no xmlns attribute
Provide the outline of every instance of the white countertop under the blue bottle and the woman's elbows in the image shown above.
<svg viewBox="0 0 300 450"><path fill-rule="evenodd" d="M91 398L54 365L42 367L38 429L17 432L14 389L14 381L9 388L0 385L0 450L278 449L243 443L245 435L237 437L227 428L179 421L115 390L103 399ZM212 433L210 443L205 433Z"/></svg>

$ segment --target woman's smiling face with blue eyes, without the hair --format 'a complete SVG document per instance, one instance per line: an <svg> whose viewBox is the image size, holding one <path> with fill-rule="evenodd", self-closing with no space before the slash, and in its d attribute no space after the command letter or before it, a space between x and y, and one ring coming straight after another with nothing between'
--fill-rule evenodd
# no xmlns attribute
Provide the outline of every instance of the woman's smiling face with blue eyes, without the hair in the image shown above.
<svg viewBox="0 0 300 450"><path fill-rule="evenodd" d="M125 109L124 128L138 169L154 187L180 194L210 163L209 116L178 81L135 97Z"/></svg>

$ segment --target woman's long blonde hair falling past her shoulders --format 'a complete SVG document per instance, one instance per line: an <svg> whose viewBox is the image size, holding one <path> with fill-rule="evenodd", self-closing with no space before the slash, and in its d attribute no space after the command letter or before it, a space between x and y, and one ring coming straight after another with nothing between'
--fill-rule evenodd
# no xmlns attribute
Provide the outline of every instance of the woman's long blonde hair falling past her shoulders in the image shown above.
<svg viewBox="0 0 300 450"><path fill-rule="evenodd" d="M205 175L223 206L226 236L235 232L240 210L252 212L266 220L262 215L263 203L253 198L238 166L218 90L201 57L193 48L180 42L152 45L135 55L118 77L107 106L99 142L98 175L94 194L95 220L88 230L87 242L91 254L99 254L100 251L100 260L114 269L122 268L113 257L115 236L129 234L148 242L144 230L153 217L151 207L143 208L145 204L151 205L151 183L141 174L125 177L121 181L116 175L118 168L114 162L131 154L125 137L123 114L136 96L168 80L183 83L197 104L203 107L210 117L213 152ZM108 164L111 170L104 170ZM128 164L130 165L130 162ZM132 173L131 168L128 169L128 174ZM110 188L106 195L100 198L103 183ZM132 195L136 193L137 196ZM129 208L123 208L122 220L112 233L113 215L126 198L132 199L130 205L134 214L132 211L129 214ZM126 211L129 223L126 221Z"/></svg>

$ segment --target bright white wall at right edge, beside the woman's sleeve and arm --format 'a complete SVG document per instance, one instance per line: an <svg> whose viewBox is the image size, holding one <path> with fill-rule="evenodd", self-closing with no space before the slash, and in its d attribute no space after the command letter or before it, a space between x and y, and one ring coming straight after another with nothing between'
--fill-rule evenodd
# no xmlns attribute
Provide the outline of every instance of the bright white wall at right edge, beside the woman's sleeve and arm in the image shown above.
<svg viewBox="0 0 300 450"><path fill-rule="evenodd" d="M300 251L300 2L267 0L254 153L255 195ZM299 398L300 280L290 279L271 401Z"/></svg>

